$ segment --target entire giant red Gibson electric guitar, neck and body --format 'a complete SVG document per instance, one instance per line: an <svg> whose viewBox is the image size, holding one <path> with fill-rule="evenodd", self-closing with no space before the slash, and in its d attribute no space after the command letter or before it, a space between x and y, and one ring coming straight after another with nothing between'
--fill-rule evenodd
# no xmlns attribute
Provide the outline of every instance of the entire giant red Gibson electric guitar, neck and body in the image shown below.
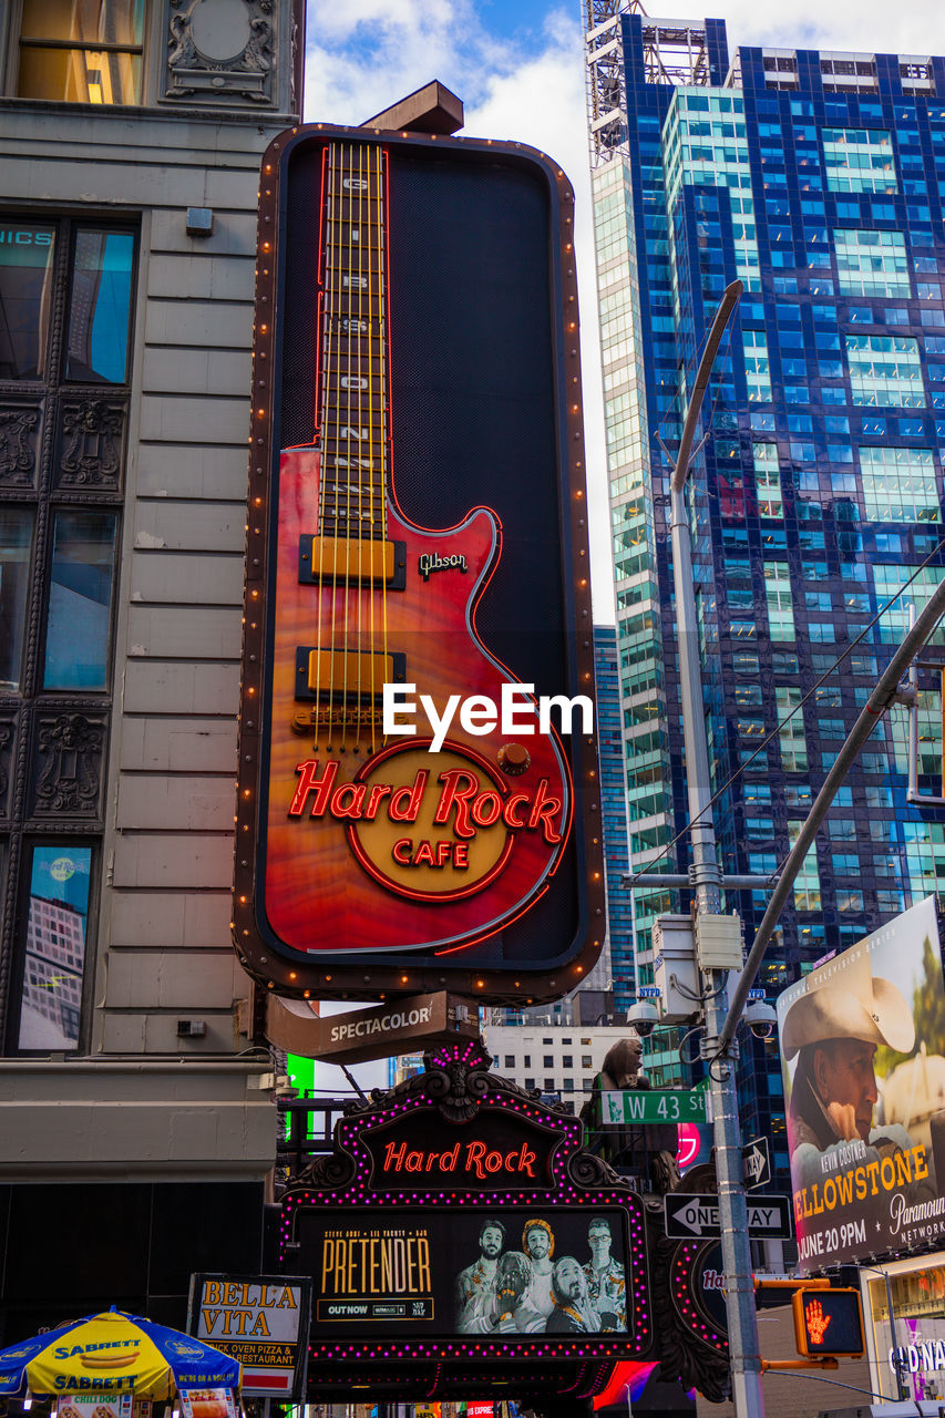
<svg viewBox="0 0 945 1418"><path fill-rule="evenodd" d="M455 950L494 934L546 891L572 820L566 759L532 686L518 685L542 730L522 730L528 750L501 719L451 722L460 700L504 705L514 682L475 625L501 527L487 508L423 527L397 501L387 206L383 147L328 142L314 430L280 459L265 824L267 916L305 951ZM460 574L429 586L448 570ZM392 722L385 686L416 692L448 740Z"/></svg>

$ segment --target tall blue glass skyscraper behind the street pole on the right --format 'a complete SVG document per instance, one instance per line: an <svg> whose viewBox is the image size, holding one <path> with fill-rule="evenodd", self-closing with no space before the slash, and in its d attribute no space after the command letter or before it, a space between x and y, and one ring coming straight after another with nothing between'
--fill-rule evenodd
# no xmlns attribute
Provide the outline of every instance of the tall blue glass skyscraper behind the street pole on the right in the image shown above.
<svg viewBox="0 0 945 1418"><path fill-rule="evenodd" d="M729 54L721 20L629 10L586 0L585 18L630 856L688 865L668 474L739 278L692 529L722 865L763 876L945 567L945 60ZM772 995L945 879L938 669L919 691L914 791L895 709L797 878ZM728 893L748 942L766 899ZM637 891L641 983L654 916L687 903ZM753 1073L752 1122L783 1141L780 1082Z"/></svg>

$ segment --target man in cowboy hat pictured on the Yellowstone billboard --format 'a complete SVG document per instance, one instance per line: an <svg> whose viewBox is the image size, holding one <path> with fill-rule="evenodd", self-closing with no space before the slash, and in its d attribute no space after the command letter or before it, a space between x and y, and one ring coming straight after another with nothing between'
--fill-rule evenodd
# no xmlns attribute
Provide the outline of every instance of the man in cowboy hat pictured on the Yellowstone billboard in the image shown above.
<svg viewBox="0 0 945 1418"><path fill-rule="evenodd" d="M799 995L782 1029L785 1058L797 1055L788 1144L795 1188L822 1183L854 1140L866 1144L858 1160L908 1151L912 1140L900 1123L874 1126L878 1099L874 1056L884 1044L897 1054L910 1054L915 1044L912 1012L902 993L890 980L874 976L866 951L843 976ZM912 1183L912 1194L928 1193L929 1183Z"/></svg>

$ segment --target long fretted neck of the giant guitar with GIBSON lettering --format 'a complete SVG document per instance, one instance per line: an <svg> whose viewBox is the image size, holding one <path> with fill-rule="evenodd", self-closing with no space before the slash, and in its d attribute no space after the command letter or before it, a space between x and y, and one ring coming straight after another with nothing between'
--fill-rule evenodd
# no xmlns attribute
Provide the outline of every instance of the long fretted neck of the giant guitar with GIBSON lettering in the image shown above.
<svg viewBox="0 0 945 1418"><path fill-rule="evenodd" d="M318 527L383 539L389 496L386 155L331 143L319 241Z"/></svg>

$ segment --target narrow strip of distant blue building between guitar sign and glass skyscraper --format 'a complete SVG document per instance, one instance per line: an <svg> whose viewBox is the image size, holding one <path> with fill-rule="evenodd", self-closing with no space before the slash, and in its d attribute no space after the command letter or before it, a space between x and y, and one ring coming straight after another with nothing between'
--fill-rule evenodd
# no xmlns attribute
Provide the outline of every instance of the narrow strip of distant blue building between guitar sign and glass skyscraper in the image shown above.
<svg viewBox="0 0 945 1418"><path fill-rule="evenodd" d="M604 872L607 886L607 951L617 1020L636 998L633 957L633 892L627 875L627 790L620 727L620 674L617 631L595 625L595 682L597 691L597 749L600 753L600 805L603 815Z"/></svg>

